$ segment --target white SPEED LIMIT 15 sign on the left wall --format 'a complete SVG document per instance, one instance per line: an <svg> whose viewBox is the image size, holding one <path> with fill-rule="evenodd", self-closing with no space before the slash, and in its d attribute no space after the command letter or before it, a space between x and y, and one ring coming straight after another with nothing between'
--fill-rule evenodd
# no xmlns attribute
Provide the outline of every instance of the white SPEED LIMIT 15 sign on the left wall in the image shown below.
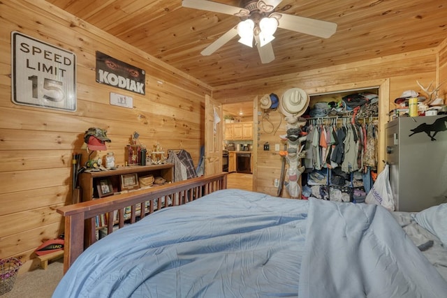
<svg viewBox="0 0 447 298"><path fill-rule="evenodd" d="M13 103L74 112L75 54L17 31L11 39Z"/></svg>

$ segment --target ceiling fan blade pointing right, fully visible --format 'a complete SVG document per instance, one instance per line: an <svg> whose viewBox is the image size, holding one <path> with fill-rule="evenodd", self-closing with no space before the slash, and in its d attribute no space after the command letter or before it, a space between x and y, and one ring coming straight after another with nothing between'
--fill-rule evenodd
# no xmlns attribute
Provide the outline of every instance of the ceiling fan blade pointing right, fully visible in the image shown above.
<svg viewBox="0 0 447 298"><path fill-rule="evenodd" d="M337 24L321 20L310 19L309 17L299 17L298 15L286 15L279 13L279 28L288 29L295 32L306 33L313 36L329 38L337 31Z"/></svg>

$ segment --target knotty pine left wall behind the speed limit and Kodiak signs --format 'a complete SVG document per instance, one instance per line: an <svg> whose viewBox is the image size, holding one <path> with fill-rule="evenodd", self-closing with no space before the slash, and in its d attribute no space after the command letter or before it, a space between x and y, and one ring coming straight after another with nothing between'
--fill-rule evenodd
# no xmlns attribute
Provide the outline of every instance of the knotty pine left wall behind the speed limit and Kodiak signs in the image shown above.
<svg viewBox="0 0 447 298"><path fill-rule="evenodd" d="M211 91L45 1L2 1L0 11L0 259L26 261L43 241L63 231L63 218L55 209L71 202L71 156L82 153L82 163L87 161L81 147L89 127L108 131L108 151L118 164L124 164L124 148L137 131L147 147L159 142L164 149L186 149L197 165L204 143L204 98ZM76 112L11 101L11 31L76 54ZM146 95L96 83L95 51L144 69ZM110 92L133 97L133 109L110 105Z"/></svg>

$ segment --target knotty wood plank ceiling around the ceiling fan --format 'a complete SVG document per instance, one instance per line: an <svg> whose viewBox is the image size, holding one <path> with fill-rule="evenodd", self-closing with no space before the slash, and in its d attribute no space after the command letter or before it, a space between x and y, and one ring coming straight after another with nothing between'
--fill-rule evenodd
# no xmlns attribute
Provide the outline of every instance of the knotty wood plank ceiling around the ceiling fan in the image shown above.
<svg viewBox="0 0 447 298"><path fill-rule="evenodd" d="M240 21L233 15L184 8L181 0L47 1L210 87L435 47L447 37L445 0L284 0L277 12L335 22L337 32L324 39L279 28L276 59L261 64L256 47L238 38L200 54Z"/></svg>

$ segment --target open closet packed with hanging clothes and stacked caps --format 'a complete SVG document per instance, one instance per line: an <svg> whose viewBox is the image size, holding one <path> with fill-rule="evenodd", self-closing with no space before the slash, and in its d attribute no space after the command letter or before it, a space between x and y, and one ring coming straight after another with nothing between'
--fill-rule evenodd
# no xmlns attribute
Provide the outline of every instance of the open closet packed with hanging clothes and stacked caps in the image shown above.
<svg viewBox="0 0 447 298"><path fill-rule="evenodd" d="M379 87L310 95L302 196L364 202L379 170Z"/></svg>

